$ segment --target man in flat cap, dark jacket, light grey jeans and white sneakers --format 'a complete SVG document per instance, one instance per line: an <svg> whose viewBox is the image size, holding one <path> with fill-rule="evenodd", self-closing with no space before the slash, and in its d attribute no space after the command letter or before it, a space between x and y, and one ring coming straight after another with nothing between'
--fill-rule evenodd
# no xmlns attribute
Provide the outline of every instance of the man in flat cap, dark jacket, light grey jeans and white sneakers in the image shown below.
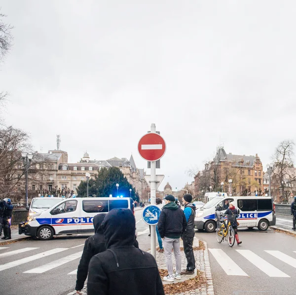
<svg viewBox="0 0 296 295"><path fill-rule="evenodd" d="M157 223L158 231L163 239L165 262L169 275L164 277L164 281L174 282L175 279L181 280L182 258L180 251L180 238L185 231L187 222L182 209L175 203L172 195L165 198L166 205L162 207ZM176 259L176 273L173 270L172 249Z"/></svg>

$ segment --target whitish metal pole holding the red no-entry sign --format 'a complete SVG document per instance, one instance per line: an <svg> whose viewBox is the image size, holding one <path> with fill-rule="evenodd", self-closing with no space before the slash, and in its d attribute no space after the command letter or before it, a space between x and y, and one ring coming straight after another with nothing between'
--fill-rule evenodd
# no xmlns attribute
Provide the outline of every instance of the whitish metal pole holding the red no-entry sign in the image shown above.
<svg viewBox="0 0 296 295"><path fill-rule="evenodd" d="M151 124L151 133L156 133L156 126ZM156 205L156 161L151 162L150 171L151 205ZM151 225L151 255L156 259L156 225Z"/></svg>

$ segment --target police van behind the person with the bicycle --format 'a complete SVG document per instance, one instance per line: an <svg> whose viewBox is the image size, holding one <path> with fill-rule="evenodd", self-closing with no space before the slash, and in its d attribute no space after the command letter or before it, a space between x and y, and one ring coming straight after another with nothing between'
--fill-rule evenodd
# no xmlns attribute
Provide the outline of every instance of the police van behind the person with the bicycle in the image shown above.
<svg viewBox="0 0 296 295"><path fill-rule="evenodd" d="M215 221L216 207L221 207L224 213L228 204L234 202L235 208L240 210L238 217L239 227L258 227L267 230L269 225L275 225L275 205L271 197L222 197L217 196L206 203L196 212L194 227L214 232L217 224Z"/></svg>

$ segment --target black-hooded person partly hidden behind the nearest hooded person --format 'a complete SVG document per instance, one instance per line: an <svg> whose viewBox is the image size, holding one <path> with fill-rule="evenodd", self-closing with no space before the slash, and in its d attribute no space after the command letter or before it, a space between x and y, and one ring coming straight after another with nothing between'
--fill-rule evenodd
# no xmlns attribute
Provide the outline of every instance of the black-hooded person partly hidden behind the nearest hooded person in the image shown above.
<svg viewBox="0 0 296 295"><path fill-rule="evenodd" d="M83 253L77 269L76 291L83 289L87 277L88 265L90 259L98 253L106 250L105 237L101 224L106 214L98 214L94 217L95 234L85 241Z"/></svg>

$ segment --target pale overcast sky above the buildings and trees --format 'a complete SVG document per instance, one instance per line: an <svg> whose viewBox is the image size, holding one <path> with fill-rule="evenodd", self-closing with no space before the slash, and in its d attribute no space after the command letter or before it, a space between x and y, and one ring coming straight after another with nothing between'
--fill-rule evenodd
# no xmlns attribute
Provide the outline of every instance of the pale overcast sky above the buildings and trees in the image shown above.
<svg viewBox="0 0 296 295"><path fill-rule="evenodd" d="M165 180L192 181L216 147L264 164L295 139L296 2L2 0L14 45L0 68L6 124L77 162L129 158L151 123ZM147 174L149 174L149 170Z"/></svg>

